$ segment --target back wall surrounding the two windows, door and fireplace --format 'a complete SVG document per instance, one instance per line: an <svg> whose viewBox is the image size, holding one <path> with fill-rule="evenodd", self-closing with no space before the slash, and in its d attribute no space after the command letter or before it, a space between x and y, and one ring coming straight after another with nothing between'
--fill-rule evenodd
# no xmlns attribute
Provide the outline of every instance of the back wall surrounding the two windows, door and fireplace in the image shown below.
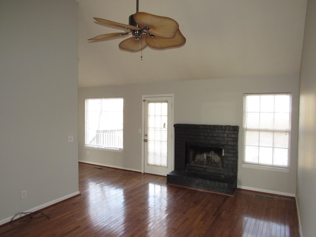
<svg viewBox="0 0 316 237"><path fill-rule="evenodd" d="M239 126L238 187L284 195L295 195L298 136L297 76L208 79L137 85L79 88L79 160L141 170L142 95L174 94L174 123ZM292 92L291 168L289 172L242 167L243 93ZM103 151L84 147L84 100L86 98L124 98L124 150ZM89 155L87 155L87 150Z"/></svg>

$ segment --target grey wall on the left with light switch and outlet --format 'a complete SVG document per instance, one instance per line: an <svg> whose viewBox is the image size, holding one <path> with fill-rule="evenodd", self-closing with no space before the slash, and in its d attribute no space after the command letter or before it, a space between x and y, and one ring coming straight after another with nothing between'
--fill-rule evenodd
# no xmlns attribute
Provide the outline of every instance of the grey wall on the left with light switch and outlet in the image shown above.
<svg viewBox="0 0 316 237"><path fill-rule="evenodd" d="M75 0L0 5L3 224L78 194L78 13ZM68 134L75 142L67 143Z"/></svg>

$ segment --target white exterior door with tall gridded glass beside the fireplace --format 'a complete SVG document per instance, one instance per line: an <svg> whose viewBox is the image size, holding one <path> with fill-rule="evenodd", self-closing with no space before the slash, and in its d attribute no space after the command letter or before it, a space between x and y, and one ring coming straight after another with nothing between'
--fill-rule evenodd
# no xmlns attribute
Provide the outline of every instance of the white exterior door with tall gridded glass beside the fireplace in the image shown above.
<svg viewBox="0 0 316 237"><path fill-rule="evenodd" d="M173 170L173 96L144 96L144 172Z"/></svg>

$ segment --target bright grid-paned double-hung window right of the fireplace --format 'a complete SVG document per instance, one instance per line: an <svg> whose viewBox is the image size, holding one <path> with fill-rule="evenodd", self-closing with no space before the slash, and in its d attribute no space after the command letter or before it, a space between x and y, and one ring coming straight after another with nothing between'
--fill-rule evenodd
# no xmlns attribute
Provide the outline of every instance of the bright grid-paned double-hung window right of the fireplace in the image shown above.
<svg viewBox="0 0 316 237"><path fill-rule="evenodd" d="M289 166L291 94L244 95L244 162Z"/></svg>

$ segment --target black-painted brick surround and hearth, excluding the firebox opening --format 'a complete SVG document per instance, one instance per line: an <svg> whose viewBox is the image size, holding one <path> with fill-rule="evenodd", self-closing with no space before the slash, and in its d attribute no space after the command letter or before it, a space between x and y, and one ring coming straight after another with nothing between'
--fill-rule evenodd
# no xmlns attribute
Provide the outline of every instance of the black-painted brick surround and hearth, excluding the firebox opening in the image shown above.
<svg viewBox="0 0 316 237"><path fill-rule="evenodd" d="M199 188L208 191L234 194L237 188L237 160L238 160L238 126L230 125L206 125L206 124L175 124L175 170L173 172L184 172L177 175L167 175L167 183ZM186 142L203 143L214 147L224 148L224 176L235 177L234 185L226 182L212 180L215 176L200 173L192 177L186 170L185 147ZM172 173L172 172L171 172ZM211 177L211 178L210 178ZM216 176L217 177L217 176ZM217 177L218 179L218 177ZM231 187L232 186L232 187ZM227 188L228 187L228 188Z"/></svg>

